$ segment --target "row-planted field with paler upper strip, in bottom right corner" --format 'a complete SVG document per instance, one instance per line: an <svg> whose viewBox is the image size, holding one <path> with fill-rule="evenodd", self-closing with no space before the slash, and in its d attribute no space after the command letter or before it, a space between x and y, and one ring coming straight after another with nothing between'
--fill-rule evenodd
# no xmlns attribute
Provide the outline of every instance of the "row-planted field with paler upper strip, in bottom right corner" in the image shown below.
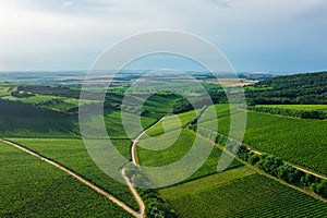
<svg viewBox="0 0 327 218"><path fill-rule="evenodd" d="M180 217L324 217L327 204L243 168L181 185L160 195Z"/></svg>

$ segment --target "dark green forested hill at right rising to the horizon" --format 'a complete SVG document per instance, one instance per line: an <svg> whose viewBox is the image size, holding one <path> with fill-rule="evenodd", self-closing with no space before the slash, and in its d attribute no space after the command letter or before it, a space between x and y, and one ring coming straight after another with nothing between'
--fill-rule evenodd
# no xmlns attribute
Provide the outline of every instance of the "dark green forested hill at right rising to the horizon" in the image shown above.
<svg viewBox="0 0 327 218"><path fill-rule="evenodd" d="M327 104L327 72L267 78L246 89L250 104Z"/></svg>

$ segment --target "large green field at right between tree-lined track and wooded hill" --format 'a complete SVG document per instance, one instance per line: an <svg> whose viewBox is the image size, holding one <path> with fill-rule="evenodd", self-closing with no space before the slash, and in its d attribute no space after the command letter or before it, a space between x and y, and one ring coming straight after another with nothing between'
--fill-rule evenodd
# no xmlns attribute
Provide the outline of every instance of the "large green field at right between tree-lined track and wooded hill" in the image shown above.
<svg viewBox="0 0 327 218"><path fill-rule="evenodd" d="M215 121L205 122L206 126L210 122ZM228 135L230 118L220 118L218 122L219 133ZM322 120L247 112L244 143L257 150L326 174L326 130L327 122Z"/></svg>

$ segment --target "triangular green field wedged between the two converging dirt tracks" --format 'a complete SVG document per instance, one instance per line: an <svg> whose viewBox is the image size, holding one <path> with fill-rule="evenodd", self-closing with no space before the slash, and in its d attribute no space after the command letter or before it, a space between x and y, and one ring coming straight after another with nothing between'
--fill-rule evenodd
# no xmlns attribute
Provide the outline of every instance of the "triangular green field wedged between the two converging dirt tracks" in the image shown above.
<svg viewBox="0 0 327 218"><path fill-rule="evenodd" d="M104 190L110 192L117 198L125 202L133 208L138 205L134 201L130 190L126 185L117 182L116 180L104 173L90 159L83 142L81 140L69 138L9 138L12 142L24 145L32 150L46 156L66 168L78 173L88 181L97 184ZM112 141L118 150L122 155L130 158L129 140L113 140Z"/></svg>

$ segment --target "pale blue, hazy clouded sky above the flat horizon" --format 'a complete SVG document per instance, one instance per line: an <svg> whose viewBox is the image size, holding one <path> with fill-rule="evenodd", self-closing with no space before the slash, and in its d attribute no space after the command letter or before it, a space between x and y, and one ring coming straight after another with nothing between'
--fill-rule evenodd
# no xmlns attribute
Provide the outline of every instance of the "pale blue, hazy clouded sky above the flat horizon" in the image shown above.
<svg viewBox="0 0 327 218"><path fill-rule="evenodd" d="M0 71L87 70L108 47L156 29L207 39L237 71L323 71L326 11L326 0L0 0Z"/></svg>

